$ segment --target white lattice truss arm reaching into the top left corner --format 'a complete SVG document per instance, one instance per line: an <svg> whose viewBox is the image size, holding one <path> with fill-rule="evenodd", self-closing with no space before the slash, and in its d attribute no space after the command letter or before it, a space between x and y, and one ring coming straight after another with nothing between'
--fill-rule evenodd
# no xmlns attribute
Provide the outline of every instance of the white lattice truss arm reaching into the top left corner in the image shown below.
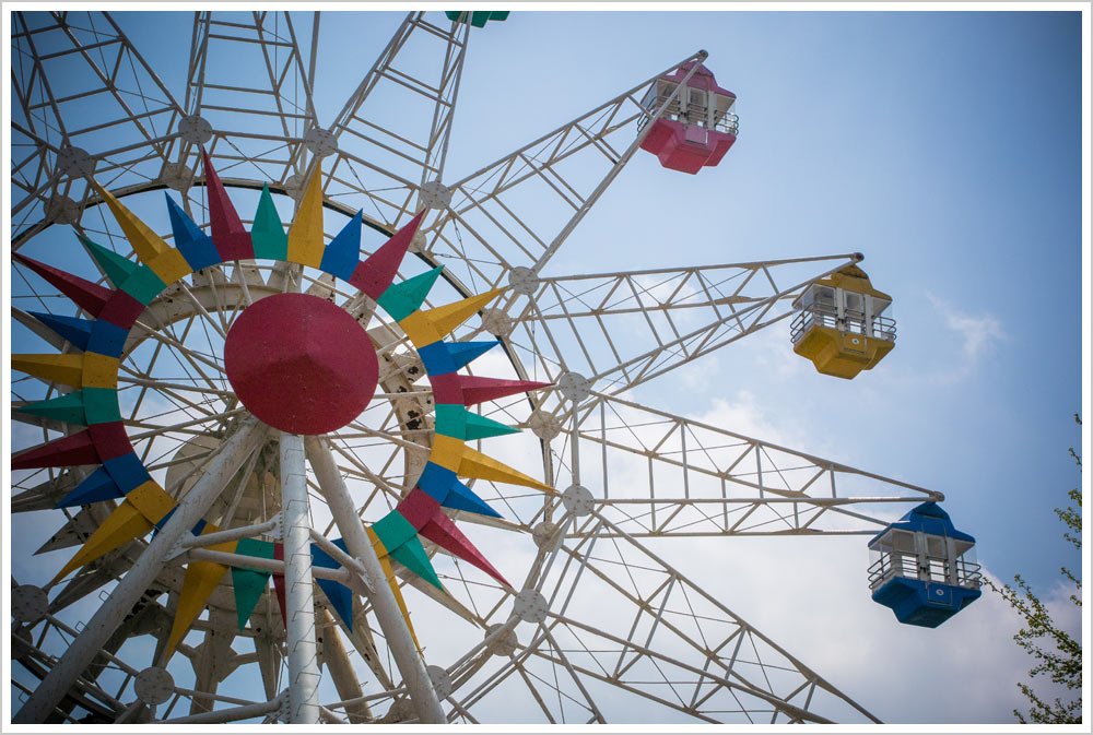
<svg viewBox="0 0 1093 735"><path fill-rule="evenodd" d="M12 13L11 60L13 235L77 222L93 171L160 177L183 109L108 14Z"/></svg>

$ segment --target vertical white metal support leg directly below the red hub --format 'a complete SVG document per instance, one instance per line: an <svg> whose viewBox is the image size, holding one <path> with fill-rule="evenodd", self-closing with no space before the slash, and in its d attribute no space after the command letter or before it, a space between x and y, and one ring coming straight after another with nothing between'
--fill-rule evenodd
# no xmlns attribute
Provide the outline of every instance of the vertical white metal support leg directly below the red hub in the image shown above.
<svg viewBox="0 0 1093 735"><path fill-rule="evenodd" d="M284 529L285 620L289 649L289 722L319 722L319 655L315 642L310 513L304 438L281 432L281 503Z"/></svg>

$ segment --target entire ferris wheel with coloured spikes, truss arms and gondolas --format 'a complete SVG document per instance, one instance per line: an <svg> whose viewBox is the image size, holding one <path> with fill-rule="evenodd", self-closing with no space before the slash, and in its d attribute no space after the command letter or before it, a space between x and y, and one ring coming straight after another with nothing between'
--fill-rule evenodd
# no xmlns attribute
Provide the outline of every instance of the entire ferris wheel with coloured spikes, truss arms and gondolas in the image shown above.
<svg viewBox="0 0 1093 735"><path fill-rule="evenodd" d="M465 174L507 13L410 13L332 121L294 16L197 13L176 93L13 14L14 720L877 722L657 545L871 536L932 626L978 595L941 494L630 394L768 327L872 368L861 256L544 274L633 157L730 150L706 54Z"/></svg>

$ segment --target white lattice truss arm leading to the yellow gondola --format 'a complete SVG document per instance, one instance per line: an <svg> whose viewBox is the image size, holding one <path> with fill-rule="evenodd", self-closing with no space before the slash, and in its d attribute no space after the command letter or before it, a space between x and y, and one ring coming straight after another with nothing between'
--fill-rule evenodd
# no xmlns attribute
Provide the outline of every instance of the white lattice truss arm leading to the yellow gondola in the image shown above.
<svg viewBox="0 0 1093 735"><path fill-rule="evenodd" d="M536 380L578 372L619 394L792 313L809 283L854 254L536 278L483 315ZM540 406L557 416L557 395Z"/></svg>

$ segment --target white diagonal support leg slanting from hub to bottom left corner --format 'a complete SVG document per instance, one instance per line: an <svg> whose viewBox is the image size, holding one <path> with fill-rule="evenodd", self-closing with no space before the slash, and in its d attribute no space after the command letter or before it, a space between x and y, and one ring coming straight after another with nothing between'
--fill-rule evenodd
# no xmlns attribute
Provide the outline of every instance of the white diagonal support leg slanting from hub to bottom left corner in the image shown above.
<svg viewBox="0 0 1093 735"><path fill-rule="evenodd" d="M178 543L183 534L189 533L190 529L201 520L201 515L221 494L239 465L266 438L267 432L268 428L255 418L249 418L238 426L235 434L220 448L197 485L178 503L171 520L164 524L163 530L149 543L133 567L121 578L60 661L26 700L26 704L15 713L13 722L45 721L77 677L91 664L106 639L132 609L149 584L158 576L167 553Z"/></svg>

